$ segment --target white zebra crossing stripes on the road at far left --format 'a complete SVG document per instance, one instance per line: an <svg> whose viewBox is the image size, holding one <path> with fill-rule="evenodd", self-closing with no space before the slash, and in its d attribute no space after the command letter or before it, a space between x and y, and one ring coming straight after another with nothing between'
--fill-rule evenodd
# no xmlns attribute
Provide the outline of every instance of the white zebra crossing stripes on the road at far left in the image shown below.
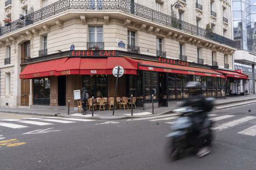
<svg viewBox="0 0 256 170"><path fill-rule="evenodd" d="M7 128L28 128L29 125L54 125L54 123L76 123L77 121L95 121L91 119L78 119L78 118L56 118L56 117L43 117L43 118L22 118L22 119L3 119L0 120L0 127Z"/></svg>

